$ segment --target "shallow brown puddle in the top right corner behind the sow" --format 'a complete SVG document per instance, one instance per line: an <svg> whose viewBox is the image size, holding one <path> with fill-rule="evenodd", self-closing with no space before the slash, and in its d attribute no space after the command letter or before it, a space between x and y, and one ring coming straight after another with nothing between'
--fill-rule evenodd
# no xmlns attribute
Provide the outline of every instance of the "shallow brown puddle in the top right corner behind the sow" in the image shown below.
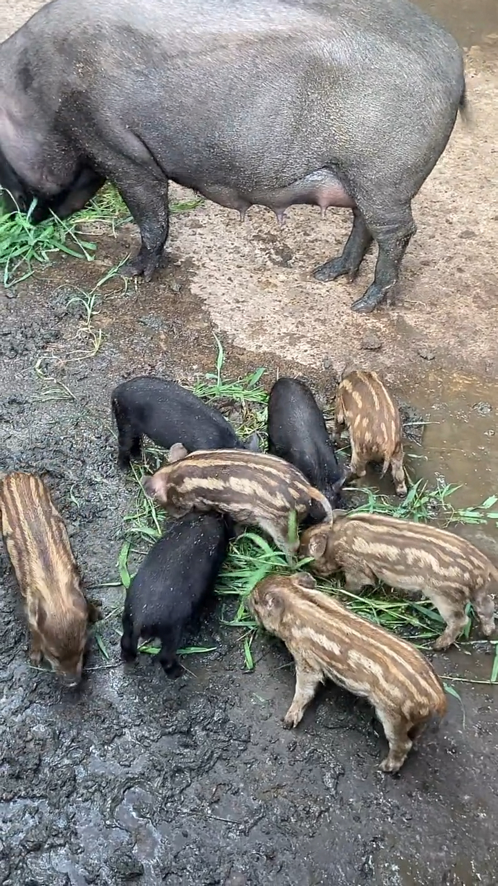
<svg viewBox="0 0 498 886"><path fill-rule="evenodd" d="M489 46L498 50L496 0L415 0L467 48Z"/></svg>

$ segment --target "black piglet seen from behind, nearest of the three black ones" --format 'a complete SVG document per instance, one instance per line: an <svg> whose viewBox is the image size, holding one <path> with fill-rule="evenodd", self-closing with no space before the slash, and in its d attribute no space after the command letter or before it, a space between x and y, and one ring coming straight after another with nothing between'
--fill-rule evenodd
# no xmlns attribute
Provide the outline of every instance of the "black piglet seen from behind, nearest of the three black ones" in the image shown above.
<svg viewBox="0 0 498 886"><path fill-rule="evenodd" d="M136 658L140 638L159 638L168 677L181 673L176 657L184 628L214 590L232 536L230 521L214 512L188 514L167 525L127 590L121 655Z"/></svg>

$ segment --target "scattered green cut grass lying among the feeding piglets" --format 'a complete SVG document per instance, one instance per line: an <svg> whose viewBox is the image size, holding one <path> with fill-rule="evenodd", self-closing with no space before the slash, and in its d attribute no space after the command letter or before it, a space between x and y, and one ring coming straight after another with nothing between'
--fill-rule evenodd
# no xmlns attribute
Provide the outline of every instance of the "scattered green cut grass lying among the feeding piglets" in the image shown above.
<svg viewBox="0 0 498 886"><path fill-rule="evenodd" d="M261 387L261 377L265 370L257 369L252 375L237 380L223 379L224 355L218 339L216 342L218 345L216 372L199 378L195 385L189 386L189 389L199 397L214 403L225 404L226 401L230 401L240 412L241 435L258 431L263 438L268 400L267 392ZM161 525L165 519L164 512L156 508L154 502L144 495L142 489L144 474L157 470L164 462L165 453L157 447L148 447L145 457L148 462L147 467L144 464L132 467L136 481L136 501L125 519L128 540L123 545L120 556L120 579L124 587L128 587L131 579L128 558L144 555L145 550L160 538ZM362 490L350 488L345 489L345 492L354 493L356 499L359 495L364 496L364 502L354 508L357 511L406 517L421 522L434 520L443 526L451 523L482 524L488 520L498 521L498 512L494 511L494 505L498 501L496 496L490 496L479 508L455 509L450 499L457 488L459 487L436 486L432 489L427 483L418 481L409 489L404 501L391 499L372 488L362 488ZM233 626L239 631L240 641L244 645L245 665L248 669L253 668L251 644L257 626L246 610L245 597L269 572L288 574L305 563L306 561L301 563L296 561L295 565L290 567L284 554L253 530L247 530L243 536L232 542L230 556L222 568L216 590L227 604L222 606L222 623ZM317 586L326 594L338 595L342 602L358 615L404 635L423 649L430 648L432 641L443 629L444 623L440 614L428 600L418 602L397 599L392 593L385 592L382 587L370 589L362 595L355 595L346 591L336 579L317 579ZM225 618L227 609L231 610L230 618ZM470 630L469 623L463 639L468 639ZM149 645L143 647L142 651L155 653L158 649ZM498 680L498 646L492 678L493 682ZM448 688L448 691L451 691L451 688Z"/></svg>

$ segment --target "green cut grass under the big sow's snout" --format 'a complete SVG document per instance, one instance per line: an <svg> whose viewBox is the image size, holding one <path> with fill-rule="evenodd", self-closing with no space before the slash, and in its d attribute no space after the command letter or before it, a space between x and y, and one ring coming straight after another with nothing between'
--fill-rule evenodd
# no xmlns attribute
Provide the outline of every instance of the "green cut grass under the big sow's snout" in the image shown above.
<svg viewBox="0 0 498 886"><path fill-rule="evenodd" d="M188 212L202 202L202 198L171 200L169 209L174 214ZM32 224L30 215L35 205L34 202L30 206L27 215L6 213L0 190L0 269L7 289L26 280L38 265L48 264L55 253L92 261L97 244L89 240L91 232L83 232L82 226L104 224L115 236L116 229L132 221L127 206L111 184L106 184L88 206L65 221L53 215L41 224Z"/></svg>

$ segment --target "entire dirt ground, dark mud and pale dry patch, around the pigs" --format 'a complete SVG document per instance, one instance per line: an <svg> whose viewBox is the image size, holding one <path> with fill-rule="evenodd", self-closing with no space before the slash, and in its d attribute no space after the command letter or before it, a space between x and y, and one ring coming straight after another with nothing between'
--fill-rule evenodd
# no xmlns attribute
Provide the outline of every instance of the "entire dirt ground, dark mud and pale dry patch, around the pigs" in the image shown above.
<svg viewBox="0 0 498 886"><path fill-rule="evenodd" d="M0 37L31 0L0 0ZM473 127L457 123L415 203L418 233L391 307L354 315L375 255L353 285L315 282L337 253L345 212L294 208L279 229L252 209L240 224L212 204L172 221L172 265L152 284L109 284L97 298L94 357L74 286L91 291L136 231L99 238L98 259L61 259L0 291L0 470L43 472L87 585L105 610L122 601L117 556L134 489L115 464L109 395L153 371L191 377L268 367L302 373L330 397L346 364L380 370L431 424L420 476L463 484L457 503L497 492L498 10L495 0L425 4L467 51ZM175 196L179 189L175 190ZM12 295L15 298L12 298ZM38 371L37 371L38 370ZM63 394L61 384L66 385ZM54 393L55 389L58 393ZM60 399L64 396L65 399ZM496 532L474 532L498 561ZM302 726L281 647L240 644L214 614L176 682L141 661L105 664L92 649L79 693L27 664L15 582L0 571L0 884L2 886L494 886L498 846L496 688L458 683L440 734L427 734L399 778L377 773L385 749L372 711L323 691ZM440 673L489 679L494 648L439 656Z"/></svg>

